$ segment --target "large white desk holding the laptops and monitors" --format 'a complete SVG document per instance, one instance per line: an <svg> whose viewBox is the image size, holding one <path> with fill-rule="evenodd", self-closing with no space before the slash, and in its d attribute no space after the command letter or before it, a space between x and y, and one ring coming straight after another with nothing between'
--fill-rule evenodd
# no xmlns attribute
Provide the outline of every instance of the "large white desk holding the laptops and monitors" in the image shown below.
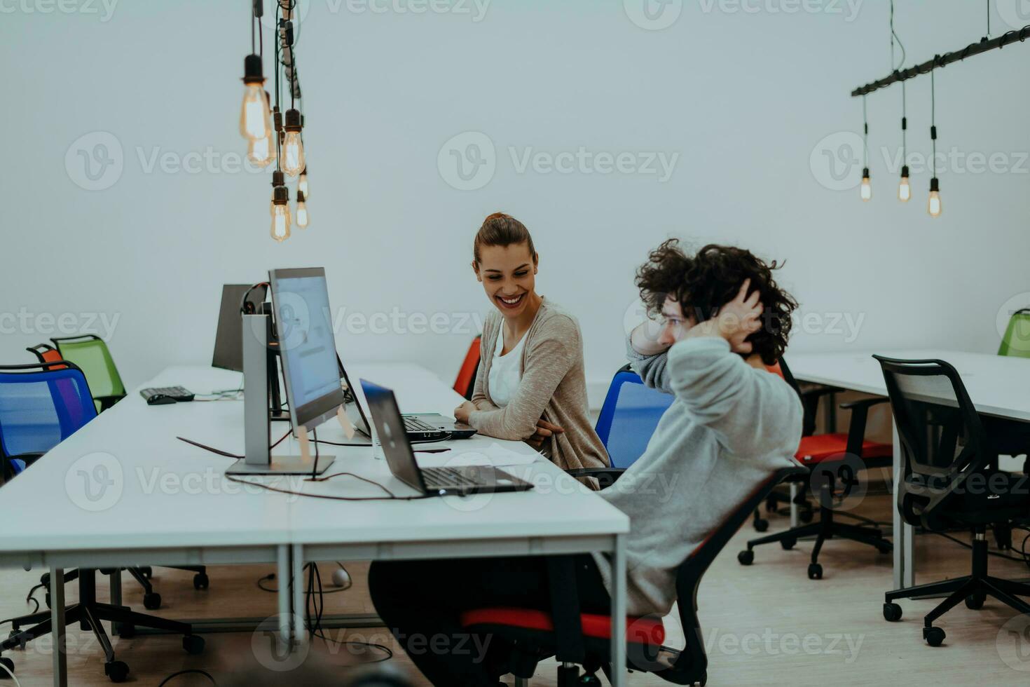
<svg viewBox="0 0 1030 687"><path fill-rule="evenodd" d="M461 398L427 371L408 365L353 366L353 377L390 386L404 412L449 414ZM211 368L170 368L142 386L181 384L195 392L237 388L240 375ZM286 431L273 422L274 439ZM229 459L175 439L242 453L243 404L238 401L147 406L137 390L56 447L0 491L0 566L49 568L55 646L64 646L59 571L130 564L269 563L279 579L301 579L303 561L539 555L605 551L613 555L613 619L625 617L628 518L546 460L510 468L538 485L521 493L447 496L413 502L338 502L244 487L225 480ZM335 420L318 438L342 440ZM496 440L440 444L473 450ZM521 442L499 442L531 454ZM435 446L437 447L437 446ZM323 446L347 471L384 484L392 478L369 448ZM297 453L293 438L275 453ZM99 455L98 455L99 454ZM268 481L286 478L248 478ZM281 482L279 482L281 484ZM289 483L304 492L381 495L346 477ZM43 506L40 512L40 506ZM31 509L31 510L30 510ZM38 515L25 517L35 511ZM115 578L117 576L114 576ZM303 585L280 585L279 630L303 642ZM113 591L113 590L112 590ZM116 602L115 602L116 603ZM294 613L293 611L297 612ZM290 627L290 619L293 627ZM614 664L625 665L625 623L613 622ZM54 652L56 685L67 684L63 651ZM131 656L124 656L132 662ZM616 685L625 671L616 671Z"/></svg>

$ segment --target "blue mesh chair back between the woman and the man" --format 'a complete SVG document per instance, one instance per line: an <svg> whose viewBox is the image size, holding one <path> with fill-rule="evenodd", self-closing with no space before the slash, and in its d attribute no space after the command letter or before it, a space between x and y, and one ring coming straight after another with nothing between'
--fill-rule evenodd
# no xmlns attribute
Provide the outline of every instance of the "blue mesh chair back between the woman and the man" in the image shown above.
<svg viewBox="0 0 1030 687"><path fill-rule="evenodd" d="M628 468L644 454L658 420L675 400L672 393L645 386L629 366L615 373L594 428L613 468Z"/></svg>

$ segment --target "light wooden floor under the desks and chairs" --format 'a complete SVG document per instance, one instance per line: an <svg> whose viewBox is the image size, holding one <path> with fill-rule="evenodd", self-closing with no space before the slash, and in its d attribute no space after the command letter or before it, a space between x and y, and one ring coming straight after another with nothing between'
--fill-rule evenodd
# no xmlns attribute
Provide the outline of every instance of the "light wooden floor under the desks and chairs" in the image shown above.
<svg viewBox="0 0 1030 687"><path fill-rule="evenodd" d="M866 496L855 512L888 520L890 506L888 496ZM776 530L785 527L787 520L774 517L771 524ZM947 630L948 639L943 646L931 648L922 639L922 615L936 602L901 602L901 622L883 619L883 592L891 585L891 556L849 542L830 542L820 556L824 579L810 581L805 571L812 544L808 542L800 542L792 551L776 544L762 547L756 550L753 565L742 566L736 553L754 536L750 525L739 533L700 587L710 685L1026 685L1030 681L1030 632L1020 636L1003 628L1017 614L993 599L981 611L960 605L947 614L937 624ZM1017 548L1021 539L1016 538ZM921 582L963 575L969 565L966 549L936 536L918 537L917 552ZM325 596L327 612L370 612L364 580L367 566L359 562L347 565L354 587ZM333 568L333 563L321 568L323 581ZM196 591L192 574L154 569L153 583L163 597L158 613L171 618L271 616L275 595L256 587L258 578L270 572L271 566L212 568L210 589ZM1009 579L1030 577L1024 563L994 556L991 572ZM0 573L0 618L32 610L25 594L38 575ZM69 585L73 596L72 587ZM124 588L125 602L142 611L135 582L127 577ZM42 593L37 592L37 597L42 600ZM671 624L678 625L675 621ZM2 628L3 634L7 629ZM417 684L427 684L383 628L329 632L332 638L391 646L397 655L390 662L411 674ZM671 627L671 644L682 638L678 627ZM248 674L261 668L255 653L264 651L262 642L266 639L244 632L207 634L207 647L200 656L187 655L180 640L173 637L116 640L115 650L118 659L130 665L130 680L135 684L158 685L166 676L190 667L207 669L219 685L303 684L289 673L266 672L265 680ZM376 655L371 650L330 650L328 646L315 640L307 665L320 662L340 681L355 669L354 665ZM48 685L49 649L49 642L41 638L25 650L4 655L14 660L25 687ZM110 684L103 674L102 652L92 634L77 627L69 632L68 672L72 685ZM553 685L554 675L553 662L543 663L533 684ZM169 687L207 684L200 676L183 676L171 681ZM634 674L630 684L667 683Z"/></svg>

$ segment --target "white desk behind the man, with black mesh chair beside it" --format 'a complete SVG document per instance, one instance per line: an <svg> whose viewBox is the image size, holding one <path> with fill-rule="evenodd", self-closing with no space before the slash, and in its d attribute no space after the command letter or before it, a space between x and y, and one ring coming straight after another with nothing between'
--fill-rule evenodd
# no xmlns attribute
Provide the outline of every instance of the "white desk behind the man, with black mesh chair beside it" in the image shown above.
<svg viewBox="0 0 1030 687"><path fill-rule="evenodd" d="M853 391L887 396L878 353L903 359L937 358L952 364L962 376L976 411L984 415L1030 422L1030 360L988 353L943 349L879 350L849 353L797 353L787 356L798 380L839 386ZM901 444L894 428L894 492L900 479ZM896 507L894 522L894 587L915 584L913 527L901 520Z"/></svg>

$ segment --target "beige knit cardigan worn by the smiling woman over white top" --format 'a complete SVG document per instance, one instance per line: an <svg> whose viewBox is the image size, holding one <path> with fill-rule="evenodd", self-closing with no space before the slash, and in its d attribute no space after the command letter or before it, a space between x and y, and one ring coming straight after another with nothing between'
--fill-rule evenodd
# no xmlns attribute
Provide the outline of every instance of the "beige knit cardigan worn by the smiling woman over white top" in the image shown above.
<svg viewBox="0 0 1030 687"><path fill-rule="evenodd" d="M469 424L497 439L525 440L543 418L564 428L544 442L541 453L563 470L607 468L608 452L590 423L583 372L583 340L576 319L544 300L525 333L522 378L511 402L497 408L490 401L490 366L504 317L491 312L483 322L480 366Z"/></svg>

